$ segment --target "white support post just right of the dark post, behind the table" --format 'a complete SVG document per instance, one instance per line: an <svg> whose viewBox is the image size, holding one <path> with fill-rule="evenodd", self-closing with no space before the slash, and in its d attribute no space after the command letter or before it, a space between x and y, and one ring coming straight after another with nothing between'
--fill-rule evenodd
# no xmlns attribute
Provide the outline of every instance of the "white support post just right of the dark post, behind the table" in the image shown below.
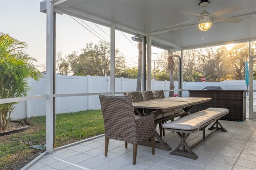
<svg viewBox="0 0 256 170"><path fill-rule="evenodd" d="M147 84L146 90L151 90L151 36L147 36Z"/></svg>

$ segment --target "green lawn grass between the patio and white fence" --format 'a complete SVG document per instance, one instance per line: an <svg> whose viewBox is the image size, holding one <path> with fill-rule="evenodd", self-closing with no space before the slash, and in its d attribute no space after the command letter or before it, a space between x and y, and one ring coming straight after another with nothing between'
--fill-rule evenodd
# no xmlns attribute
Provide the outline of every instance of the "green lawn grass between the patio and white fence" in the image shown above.
<svg viewBox="0 0 256 170"><path fill-rule="evenodd" d="M32 124L28 130L0 136L1 170L18 170L43 152L30 146L46 143L46 116L32 117L27 122ZM101 110L57 114L54 148L99 134L104 134Z"/></svg>

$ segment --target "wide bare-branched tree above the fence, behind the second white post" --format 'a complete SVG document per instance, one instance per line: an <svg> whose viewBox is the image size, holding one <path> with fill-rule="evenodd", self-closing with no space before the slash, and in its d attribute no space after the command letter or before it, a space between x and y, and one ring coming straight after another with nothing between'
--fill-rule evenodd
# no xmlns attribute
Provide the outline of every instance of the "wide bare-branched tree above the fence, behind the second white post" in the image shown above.
<svg viewBox="0 0 256 170"><path fill-rule="evenodd" d="M68 61L74 75L76 76L110 76L110 43L100 41L99 44L92 42L82 48L82 54L77 52L68 55ZM125 70L124 55L115 51L116 55L116 74Z"/></svg>

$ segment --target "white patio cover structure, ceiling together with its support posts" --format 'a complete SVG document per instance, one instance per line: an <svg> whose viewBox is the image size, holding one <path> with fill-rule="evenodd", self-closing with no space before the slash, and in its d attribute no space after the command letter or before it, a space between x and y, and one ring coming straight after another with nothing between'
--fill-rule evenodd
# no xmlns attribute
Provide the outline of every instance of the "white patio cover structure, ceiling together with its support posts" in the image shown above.
<svg viewBox="0 0 256 170"><path fill-rule="evenodd" d="M194 16L181 14L188 11L200 14L202 7L198 5L200 0L45 0L41 2L41 12L46 12L46 150L53 152L55 139L55 113L56 97L73 96L74 94L55 94L54 82L54 23L55 13L68 14L97 24L110 27L111 44L111 72L110 93L115 94L114 80L114 30L121 30L140 38L143 36L143 44L147 44L147 65L144 62L142 75L145 76L147 67L146 90L151 90L151 45L165 50L177 51L184 49L200 48L205 46L224 45L235 42L256 40L256 0L210 0L206 7L210 13L232 6L242 6L242 10L225 14L227 17L238 17L244 20L239 24L214 23L207 32L196 32L197 22L189 22L178 28L166 30L168 26L188 22L197 19ZM46 10L47 9L47 10ZM55 13L54 13L55 12ZM202 37L205 37L202 40ZM145 43L145 39L148 41ZM146 48L145 46L143 47ZM250 55L250 54L249 54ZM181 60L181 59L179 59ZM179 64L181 65L181 62ZM249 64L252 63L252 58ZM250 64L252 68L252 64ZM182 67L179 67L179 73ZM252 69L250 68L249 92L252 93ZM146 78L142 77L142 80ZM182 74L179 74L179 82L182 82ZM144 84L145 81L144 81ZM75 94L76 95L76 94ZM82 94L83 95L83 94ZM249 112L252 112L252 95L249 98Z"/></svg>

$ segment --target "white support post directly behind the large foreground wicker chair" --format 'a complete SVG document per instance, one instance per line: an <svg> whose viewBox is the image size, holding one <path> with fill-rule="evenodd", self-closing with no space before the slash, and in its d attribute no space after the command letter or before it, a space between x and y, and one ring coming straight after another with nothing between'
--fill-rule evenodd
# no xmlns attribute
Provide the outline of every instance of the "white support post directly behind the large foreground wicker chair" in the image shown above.
<svg viewBox="0 0 256 170"><path fill-rule="evenodd" d="M114 96L115 95L115 38L116 38L116 26L112 24L110 26L110 92Z"/></svg>

